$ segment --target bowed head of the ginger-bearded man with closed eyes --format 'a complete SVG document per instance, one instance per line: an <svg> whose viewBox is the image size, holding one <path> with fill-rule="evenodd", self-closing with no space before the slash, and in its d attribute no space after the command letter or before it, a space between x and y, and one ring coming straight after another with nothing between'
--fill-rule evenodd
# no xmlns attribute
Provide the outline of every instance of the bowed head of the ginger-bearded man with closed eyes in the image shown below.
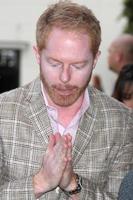
<svg viewBox="0 0 133 200"><path fill-rule="evenodd" d="M99 55L99 21L88 8L63 1L40 16L36 33L36 55L49 102L58 106L76 103Z"/></svg>

